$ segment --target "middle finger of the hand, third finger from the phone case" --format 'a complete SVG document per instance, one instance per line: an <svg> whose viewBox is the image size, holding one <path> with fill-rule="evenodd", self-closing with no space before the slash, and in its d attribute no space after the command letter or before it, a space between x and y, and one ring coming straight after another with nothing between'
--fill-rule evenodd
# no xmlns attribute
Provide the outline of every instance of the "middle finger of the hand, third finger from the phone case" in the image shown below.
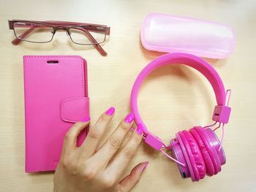
<svg viewBox="0 0 256 192"><path fill-rule="evenodd" d="M116 153L125 135L129 131L129 128L131 127L131 123L133 120L134 115L132 113L129 113L127 117L124 118L124 120L122 120L121 123L119 123L116 130L113 131L113 133L110 135L105 144L102 145L99 151L97 151L97 153L94 155L95 160L100 159L102 165L108 165L110 158L112 158L113 155Z"/></svg>

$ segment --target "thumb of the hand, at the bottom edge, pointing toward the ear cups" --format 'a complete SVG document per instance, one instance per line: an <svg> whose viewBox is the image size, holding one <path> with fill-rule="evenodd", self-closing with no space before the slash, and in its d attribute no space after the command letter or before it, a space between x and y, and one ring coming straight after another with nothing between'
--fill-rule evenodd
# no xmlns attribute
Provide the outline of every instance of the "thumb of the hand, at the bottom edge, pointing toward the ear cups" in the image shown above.
<svg viewBox="0 0 256 192"><path fill-rule="evenodd" d="M131 191L132 188L135 187L135 185L140 181L141 174L145 171L146 167L148 166L148 161L140 163L136 165L131 173L124 177L123 180L121 180L118 185L116 185L116 191L121 192L128 192Z"/></svg>

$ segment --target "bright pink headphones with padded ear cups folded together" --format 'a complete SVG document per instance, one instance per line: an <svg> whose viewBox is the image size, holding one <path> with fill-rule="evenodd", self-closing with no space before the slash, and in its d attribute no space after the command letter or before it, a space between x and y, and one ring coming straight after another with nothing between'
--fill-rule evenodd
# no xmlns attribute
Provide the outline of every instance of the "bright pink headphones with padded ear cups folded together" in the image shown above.
<svg viewBox="0 0 256 192"><path fill-rule="evenodd" d="M212 116L212 120L215 123L205 127L195 126L190 128L189 131L178 131L176 138L170 140L169 146L166 146L159 137L148 131L138 111L138 92L143 80L154 69L167 64L184 64L197 69L211 83L217 100L217 105L214 108L214 114ZM229 96L227 104L225 104L227 93L229 93ZM222 149L222 141L225 123L228 123L230 118L231 108L228 107L230 93L230 90L225 92L223 82L216 70L202 58L187 53L168 53L151 61L138 75L132 88L131 109L135 115L135 123L143 127L144 141L175 161L183 178L191 177L192 181L198 181L203 179L206 174L212 176L220 172L222 169L221 166L226 162L225 153ZM217 123L219 123L217 128L222 126L221 142L219 142L217 135L214 133L217 128L214 130L210 128ZM168 155L165 152L166 149L172 150L174 157Z"/></svg>

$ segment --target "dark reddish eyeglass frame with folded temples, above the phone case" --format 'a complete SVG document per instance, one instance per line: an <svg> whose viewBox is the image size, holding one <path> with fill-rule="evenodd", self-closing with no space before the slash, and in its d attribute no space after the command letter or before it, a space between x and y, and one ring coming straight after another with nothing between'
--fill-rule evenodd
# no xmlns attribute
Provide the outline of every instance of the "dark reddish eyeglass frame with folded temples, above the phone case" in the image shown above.
<svg viewBox="0 0 256 192"><path fill-rule="evenodd" d="M24 38L26 38L26 36L28 36L31 31L33 31L34 26L31 26L31 28L29 28L27 31L24 31L23 34L20 34L20 36L18 36L15 33L15 23L35 23L35 24L39 24L39 25L43 25L43 26L49 26L51 28L53 28L53 32L52 32L52 37L49 41L47 42L51 42L53 40L54 34L56 34L56 31L58 30L64 30L67 32L67 35L69 37L69 39L78 45L94 45L94 47L99 51L99 53L103 56L108 55L108 53L105 52L105 50L103 50L102 46L99 45L102 42L105 42L106 36L110 35L110 26L105 26L105 25L99 25L99 24L92 24L92 23L78 23L78 22L70 22L70 21L58 21L58 20L45 20L45 21L37 21L37 20L8 20L9 23L9 28L11 30L14 31L15 37L16 39L12 40L12 44L13 45L18 45L21 41L25 41L25 42L32 42L29 40L26 40ZM82 43L78 43L78 42L74 42L71 35L70 35L70 28L77 28L81 31L83 31L86 34L86 37L89 39L89 41L91 42L91 44L82 44ZM102 42L97 42L96 39L94 39L94 37L89 33L90 31L97 31L97 32L102 32L105 34L105 37L103 39ZM46 43L46 42L34 42L34 43Z"/></svg>

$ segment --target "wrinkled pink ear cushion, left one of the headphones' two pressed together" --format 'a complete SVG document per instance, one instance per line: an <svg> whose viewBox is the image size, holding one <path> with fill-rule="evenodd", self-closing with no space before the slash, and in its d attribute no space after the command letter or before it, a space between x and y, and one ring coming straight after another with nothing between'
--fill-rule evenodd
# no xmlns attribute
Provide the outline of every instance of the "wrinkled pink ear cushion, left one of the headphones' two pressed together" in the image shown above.
<svg viewBox="0 0 256 192"><path fill-rule="evenodd" d="M203 156L201 154L200 148L198 147L197 142L189 133L189 131L184 130L183 133L187 141L189 142L189 147L192 151L193 158L195 159L195 164L199 173L199 177L200 179L203 179L206 176L206 164L203 161Z"/></svg>

